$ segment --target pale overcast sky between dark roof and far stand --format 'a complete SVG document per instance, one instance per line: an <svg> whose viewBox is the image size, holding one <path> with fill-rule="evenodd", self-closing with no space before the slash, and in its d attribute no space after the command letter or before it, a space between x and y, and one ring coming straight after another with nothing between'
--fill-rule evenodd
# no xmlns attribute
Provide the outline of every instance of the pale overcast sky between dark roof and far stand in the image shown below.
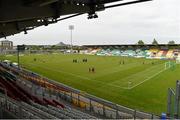
<svg viewBox="0 0 180 120"><path fill-rule="evenodd" d="M153 0L98 12L97 19L87 19L87 14L60 21L49 26L7 37L14 45L70 44L69 25L74 25L74 45L136 44L143 40L152 43L180 44L180 0ZM4 40L4 38L0 39Z"/></svg>

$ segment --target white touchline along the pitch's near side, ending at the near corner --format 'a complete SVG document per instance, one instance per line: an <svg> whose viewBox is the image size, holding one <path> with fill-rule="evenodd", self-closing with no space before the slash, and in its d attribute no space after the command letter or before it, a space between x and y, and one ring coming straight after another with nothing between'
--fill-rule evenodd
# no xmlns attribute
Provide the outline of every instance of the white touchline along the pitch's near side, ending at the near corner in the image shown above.
<svg viewBox="0 0 180 120"><path fill-rule="evenodd" d="M98 81L98 80L93 80L93 79L90 79L90 78L88 78L88 77L76 75L76 74L69 73L69 72L64 72L64 71L62 71L62 70L54 70L54 69L50 69L50 68L47 68L47 67L42 67L42 66L40 66L40 65L36 65L36 64L33 64L33 63L26 63L26 64L33 65L33 66L39 66L39 67L41 67L41 68L43 68L43 69L47 69L47 70L51 70L51 71L55 71L55 72L60 72L60 73L64 73L64 74L68 74L68 75L71 75L71 76L74 76L74 77L78 77L78 78L81 78L81 79L86 79L86 80L89 80L89 81L99 82L99 83L102 83L102 84L104 84L104 85L106 85L106 86L118 87L118 88L120 88L120 89L129 89L129 88L127 88L127 87L120 87L120 86L118 86L118 85L108 84L108 83L106 83L106 82L102 82L102 81Z"/></svg>

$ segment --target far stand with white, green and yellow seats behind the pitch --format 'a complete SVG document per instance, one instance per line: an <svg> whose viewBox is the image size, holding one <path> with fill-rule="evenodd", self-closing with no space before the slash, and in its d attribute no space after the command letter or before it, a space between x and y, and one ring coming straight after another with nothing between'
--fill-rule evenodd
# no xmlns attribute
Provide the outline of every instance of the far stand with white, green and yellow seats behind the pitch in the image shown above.
<svg viewBox="0 0 180 120"><path fill-rule="evenodd" d="M180 44L168 45L84 45L81 54L105 56L129 56L137 58L176 59L180 58Z"/></svg>

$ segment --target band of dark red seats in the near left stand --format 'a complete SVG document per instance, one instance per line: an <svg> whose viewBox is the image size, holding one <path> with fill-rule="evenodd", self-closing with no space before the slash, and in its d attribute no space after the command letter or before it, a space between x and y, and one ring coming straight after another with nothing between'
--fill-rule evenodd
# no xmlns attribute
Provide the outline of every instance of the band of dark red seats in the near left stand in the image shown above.
<svg viewBox="0 0 180 120"><path fill-rule="evenodd" d="M26 103L28 105L32 105L37 109L44 111L45 113L48 112L50 115L55 116L55 118L66 118L66 119L95 118L86 113L80 112L78 110L74 110L73 108L71 109L69 109L69 107L66 108L66 105L60 103L55 99L48 99L48 98L41 99L38 96L28 93L26 89L21 87L21 84L17 85L16 82L19 81L19 79L14 81L7 76L6 76L7 78L4 78L3 76L0 77L1 77L0 83L2 84L1 87L5 86L5 89L7 90L8 93L8 97L13 98L14 100L23 101L24 104ZM9 93L11 94L9 95ZM42 108L44 109L42 110Z"/></svg>

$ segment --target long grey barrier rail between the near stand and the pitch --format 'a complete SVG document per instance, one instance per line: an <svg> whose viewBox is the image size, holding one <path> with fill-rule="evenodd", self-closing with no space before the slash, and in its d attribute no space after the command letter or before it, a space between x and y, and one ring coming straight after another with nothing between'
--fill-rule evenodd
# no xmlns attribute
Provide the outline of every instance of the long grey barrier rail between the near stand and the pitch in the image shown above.
<svg viewBox="0 0 180 120"><path fill-rule="evenodd" d="M3 65L1 63L1 65ZM7 66L7 65L4 65L4 67L8 67L8 69L11 69L11 70L16 70L18 71L19 74L30 74L32 73L32 71L30 70L26 70L26 69L15 69L15 68L12 68L10 66ZM44 76L41 76L41 75L38 75L36 74L36 77L41 79L41 80L46 80L46 82L49 82L49 83L52 83L53 85L56 85L56 86L60 86L60 87L63 87L63 88L66 88L67 90L69 90L70 94L77 94L78 97L82 96L86 99L89 99L90 101L94 101L94 102L97 102L99 104L101 104L103 106L103 109L104 107L109 107L111 108L112 110L115 110L115 111L119 111L119 112L124 112L124 113L127 113L127 114L130 114L132 115L134 118L147 118L147 119L151 119L151 118L159 118L158 115L154 115L154 114L151 114L151 113L146 113L146 112L142 112L142 111L138 111L138 110L134 110L134 109L131 109L131 108L128 108L128 107L125 107L125 106L122 106L122 105L118 105L118 104L115 104L115 103L112 103L110 101L107 101L107 100L104 100L102 98L99 98L99 97L96 97L96 96L93 96L93 95L90 95L88 93L84 93L84 94L81 94L81 91L80 90L77 90L77 89L74 89L74 88L71 88L67 85L64 85L62 83L59 83L59 82L56 82L56 81L53 81L51 79L48 79ZM42 79L44 78L44 79ZM68 96L68 95L67 95ZM72 96L69 96L72 98ZM73 99L73 98L72 98ZM77 99L79 100L79 99ZM91 104L90 104L91 105ZM116 113L118 114L118 113Z"/></svg>

